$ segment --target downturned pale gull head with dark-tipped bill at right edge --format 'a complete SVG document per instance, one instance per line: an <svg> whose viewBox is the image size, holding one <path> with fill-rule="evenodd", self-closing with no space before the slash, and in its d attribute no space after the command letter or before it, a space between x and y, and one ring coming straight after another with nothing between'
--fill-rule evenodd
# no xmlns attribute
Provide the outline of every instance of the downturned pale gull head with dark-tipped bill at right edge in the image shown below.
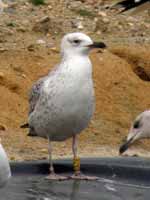
<svg viewBox="0 0 150 200"><path fill-rule="evenodd" d="M119 149L120 154L124 153L134 141L142 138L150 138L150 110L146 110L136 117L127 140Z"/></svg>

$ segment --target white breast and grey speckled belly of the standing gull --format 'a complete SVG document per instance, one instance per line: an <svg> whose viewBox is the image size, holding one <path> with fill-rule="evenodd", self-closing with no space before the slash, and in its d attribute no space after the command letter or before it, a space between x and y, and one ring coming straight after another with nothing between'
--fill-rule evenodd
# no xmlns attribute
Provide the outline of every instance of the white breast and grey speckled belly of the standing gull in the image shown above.
<svg viewBox="0 0 150 200"><path fill-rule="evenodd" d="M89 59L69 61L63 65L65 67L60 66L57 73L45 81L38 109L32 117L38 135L44 137L49 134L55 141L80 133L87 127L94 112Z"/></svg>

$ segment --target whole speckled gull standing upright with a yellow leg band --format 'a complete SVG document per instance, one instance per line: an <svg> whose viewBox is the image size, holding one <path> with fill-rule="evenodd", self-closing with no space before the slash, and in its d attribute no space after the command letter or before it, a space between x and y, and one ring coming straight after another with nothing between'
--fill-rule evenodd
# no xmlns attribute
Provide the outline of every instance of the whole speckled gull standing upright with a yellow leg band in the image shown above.
<svg viewBox="0 0 150 200"><path fill-rule="evenodd" d="M83 33L69 33L61 42L61 62L32 87L28 124L30 136L48 138L50 179L63 179L54 173L51 141L73 138L74 178L88 179L80 173L77 134L84 130L94 113L95 98L92 64L88 54L93 48L105 48Z"/></svg>

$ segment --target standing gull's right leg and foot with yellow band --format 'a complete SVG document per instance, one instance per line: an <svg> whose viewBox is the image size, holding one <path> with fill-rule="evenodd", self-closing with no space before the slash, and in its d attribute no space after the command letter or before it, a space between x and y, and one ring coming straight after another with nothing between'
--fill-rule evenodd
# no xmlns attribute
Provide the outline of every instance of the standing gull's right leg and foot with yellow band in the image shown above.
<svg viewBox="0 0 150 200"><path fill-rule="evenodd" d="M80 171L80 158L77 156L77 135L73 136L72 151L73 151L74 174L71 176L71 178L78 179L78 180L98 180L98 177L86 176L86 175L82 174Z"/></svg>

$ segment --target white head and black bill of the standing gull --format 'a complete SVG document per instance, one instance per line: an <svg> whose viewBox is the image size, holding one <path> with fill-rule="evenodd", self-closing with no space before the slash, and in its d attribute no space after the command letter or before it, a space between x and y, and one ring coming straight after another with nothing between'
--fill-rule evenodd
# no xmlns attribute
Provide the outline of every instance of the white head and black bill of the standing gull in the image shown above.
<svg viewBox="0 0 150 200"><path fill-rule="evenodd" d="M61 42L62 56L88 55L93 48L106 48L103 42L93 42L92 39L84 33L68 33Z"/></svg>

